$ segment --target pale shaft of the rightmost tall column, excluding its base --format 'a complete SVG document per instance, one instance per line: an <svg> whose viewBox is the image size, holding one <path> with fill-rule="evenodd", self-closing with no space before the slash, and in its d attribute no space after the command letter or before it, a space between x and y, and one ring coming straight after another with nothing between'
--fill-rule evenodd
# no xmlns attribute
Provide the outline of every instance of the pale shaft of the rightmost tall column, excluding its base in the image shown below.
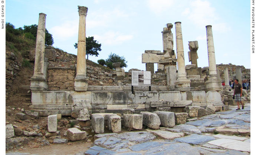
<svg viewBox="0 0 256 155"><path fill-rule="evenodd" d="M206 34L207 34L207 51L208 51L208 62L209 62L209 74L210 74L210 78L216 78L217 79L215 50L214 50L214 44L213 44L213 31L212 31L211 25L206 26Z"/></svg>

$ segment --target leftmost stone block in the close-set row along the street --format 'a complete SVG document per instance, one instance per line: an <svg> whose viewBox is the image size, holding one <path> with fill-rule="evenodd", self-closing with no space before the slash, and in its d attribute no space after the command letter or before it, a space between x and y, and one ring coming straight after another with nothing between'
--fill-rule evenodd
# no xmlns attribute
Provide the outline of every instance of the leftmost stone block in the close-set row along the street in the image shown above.
<svg viewBox="0 0 256 155"><path fill-rule="evenodd" d="M104 116L92 114L92 129L97 134L104 133Z"/></svg>

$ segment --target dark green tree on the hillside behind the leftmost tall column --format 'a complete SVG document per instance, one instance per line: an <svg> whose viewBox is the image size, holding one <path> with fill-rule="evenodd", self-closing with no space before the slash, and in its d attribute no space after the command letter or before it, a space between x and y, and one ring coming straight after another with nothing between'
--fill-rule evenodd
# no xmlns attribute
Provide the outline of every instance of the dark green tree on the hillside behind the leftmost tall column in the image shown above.
<svg viewBox="0 0 256 155"><path fill-rule="evenodd" d="M24 25L24 33L31 33L35 38L36 38L36 35L37 35L37 25L34 24L34 25ZM52 34L50 34L48 32L47 29L45 29L45 45L52 45L54 42L53 42L53 38L52 38Z"/></svg>

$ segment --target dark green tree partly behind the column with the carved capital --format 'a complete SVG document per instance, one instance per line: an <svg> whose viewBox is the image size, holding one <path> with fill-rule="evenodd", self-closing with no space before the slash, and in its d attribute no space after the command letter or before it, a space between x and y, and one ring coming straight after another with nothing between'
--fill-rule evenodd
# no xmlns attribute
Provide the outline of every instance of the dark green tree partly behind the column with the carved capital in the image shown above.
<svg viewBox="0 0 256 155"><path fill-rule="evenodd" d="M78 44L75 43L74 47L77 48ZM87 60L89 55L98 56L98 51L101 51L101 44L94 40L94 37L86 37L86 55Z"/></svg>

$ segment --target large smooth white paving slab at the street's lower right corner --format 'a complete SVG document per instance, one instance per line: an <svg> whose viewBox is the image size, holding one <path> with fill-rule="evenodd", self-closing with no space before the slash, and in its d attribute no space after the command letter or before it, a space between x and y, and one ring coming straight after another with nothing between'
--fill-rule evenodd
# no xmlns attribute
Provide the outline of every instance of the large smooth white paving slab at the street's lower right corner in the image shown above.
<svg viewBox="0 0 256 155"><path fill-rule="evenodd" d="M217 146L224 147L227 149L234 149L237 151L246 151L246 152L251 151L250 144L248 142L231 140L231 139L227 139L227 138L213 140L213 141L208 142L208 144L217 145Z"/></svg>

